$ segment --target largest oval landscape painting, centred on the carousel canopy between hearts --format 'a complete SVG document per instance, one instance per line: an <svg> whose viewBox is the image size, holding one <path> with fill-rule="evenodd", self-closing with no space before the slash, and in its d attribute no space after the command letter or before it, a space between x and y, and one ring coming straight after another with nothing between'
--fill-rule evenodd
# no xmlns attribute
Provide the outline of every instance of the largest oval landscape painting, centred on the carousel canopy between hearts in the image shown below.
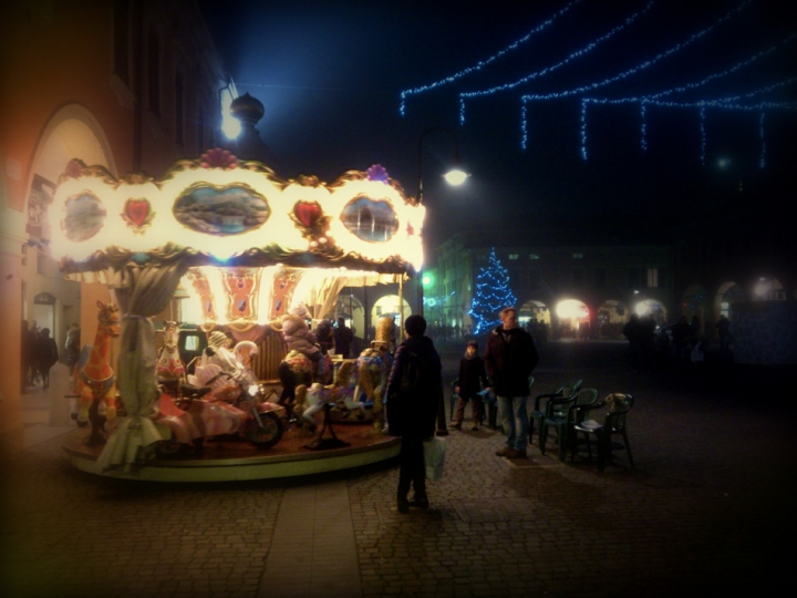
<svg viewBox="0 0 797 598"><path fill-rule="evenodd" d="M260 228L271 214L266 198L242 184L194 185L177 198L173 212L184 226L208 235L241 235Z"/></svg>

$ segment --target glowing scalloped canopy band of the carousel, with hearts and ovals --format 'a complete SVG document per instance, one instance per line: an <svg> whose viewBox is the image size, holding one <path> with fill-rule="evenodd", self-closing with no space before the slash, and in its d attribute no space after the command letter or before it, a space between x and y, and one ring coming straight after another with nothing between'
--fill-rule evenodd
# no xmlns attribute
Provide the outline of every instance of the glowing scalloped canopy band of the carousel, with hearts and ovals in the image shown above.
<svg viewBox="0 0 797 598"><path fill-rule="evenodd" d="M72 161L53 212L53 256L66 274L178 260L411 276L423 261L425 208L379 165L325 184L281 181L221 150L180 161L161 179L117 181Z"/></svg>

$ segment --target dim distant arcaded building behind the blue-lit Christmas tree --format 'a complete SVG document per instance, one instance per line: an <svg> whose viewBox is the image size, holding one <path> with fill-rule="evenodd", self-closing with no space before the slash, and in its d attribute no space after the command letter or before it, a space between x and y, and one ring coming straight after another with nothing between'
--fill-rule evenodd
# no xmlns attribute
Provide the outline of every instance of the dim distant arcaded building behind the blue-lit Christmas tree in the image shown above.
<svg viewBox="0 0 797 598"><path fill-rule="evenodd" d="M635 311L663 323L672 310L672 250L666 245L597 243L573 229L457 233L437 249L432 318L455 333L475 330L469 315L490 250L509 276L520 321L551 338L621 338Z"/></svg>

